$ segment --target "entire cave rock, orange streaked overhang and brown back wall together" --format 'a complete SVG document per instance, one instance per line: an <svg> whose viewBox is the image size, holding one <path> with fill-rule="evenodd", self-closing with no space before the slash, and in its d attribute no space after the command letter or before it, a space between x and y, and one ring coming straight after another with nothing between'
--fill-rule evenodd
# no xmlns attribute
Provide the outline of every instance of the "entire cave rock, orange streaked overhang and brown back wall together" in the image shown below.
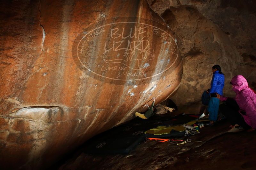
<svg viewBox="0 0 256 170"><path fill-rule="evenodd" d="M144 111L154 96L156 103L172 96L181 111L198 112L215 64L225 73L225 95L234 96L228 82L236 74L256 88L255 1L148 4L2 3L4 168L45 168L88 138Z"/></svg>

